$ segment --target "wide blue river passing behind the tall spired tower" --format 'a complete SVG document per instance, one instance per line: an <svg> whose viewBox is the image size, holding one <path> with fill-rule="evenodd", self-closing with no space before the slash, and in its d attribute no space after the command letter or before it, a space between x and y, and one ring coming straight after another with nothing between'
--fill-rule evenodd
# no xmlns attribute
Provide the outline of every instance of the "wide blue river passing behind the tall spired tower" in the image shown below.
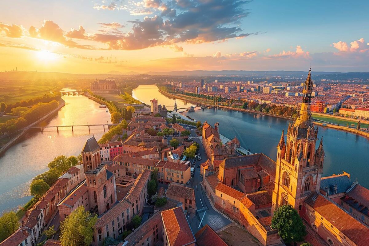
<svg viewBox="0 0 369 246"><path fill-rule="evenodd" d="M155 85L140 85L132 91L132 95L147 104L150 103L150 99L146 95L150 95L156 98L158 103L174 105L174 100L161 94ZM187 107L188 105L190 104L187 103ZM207 121L211 125L219 122L221 134L229 139L237 136L241 146L250 149L252 153L262 152L273 160L276 160L276 146L282 129L286 131L289 123L289 120L277 117L220 108L196 110L186 114L201 122ZM326 156L323 176L346 171L351 174L352 181L357 179L359 184L369 188L369 139L345 131L320 127L318 138L322 136ZM318 144L319 141L317 146Z"/></svg>

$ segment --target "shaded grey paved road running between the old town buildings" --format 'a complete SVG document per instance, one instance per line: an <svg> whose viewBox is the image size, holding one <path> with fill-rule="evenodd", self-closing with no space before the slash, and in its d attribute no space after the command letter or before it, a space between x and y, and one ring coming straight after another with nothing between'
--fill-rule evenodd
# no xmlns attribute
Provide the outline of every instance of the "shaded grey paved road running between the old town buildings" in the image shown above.
<svg viewBox="0 0 369 246"><path fill-rule="evenodd" d="M200 176L200 163L206 161L206 155L203 145L200 142L200 139L197 137L196 133L194 131L191 131L191 135L194 137L194 141L200 144L199 153L202 160L195 163L195 173L189 186L195 189L196 208L207 208L207 210L205 212L200 212L193 218L191 216L188 219L193 233L199 231L206 224L213 228L214 231L217 231L218 229L230 224L231 221L225 218L222 214L218 213L216 210L214 210L210 204L210 201L206 197L206 194L200 184L200 182L203 180L203 178ZM201 226L199 228L200 222Z"/></svg>

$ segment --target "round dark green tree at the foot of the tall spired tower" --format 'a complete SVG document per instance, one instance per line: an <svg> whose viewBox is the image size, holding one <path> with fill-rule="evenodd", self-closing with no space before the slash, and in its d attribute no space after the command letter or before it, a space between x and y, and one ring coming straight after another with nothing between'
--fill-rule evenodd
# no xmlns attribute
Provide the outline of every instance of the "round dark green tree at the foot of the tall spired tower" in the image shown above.
<svg viewBox="0 0 369 246"><path fill-rule="evenodd" d="M285 243L301 242L306 236L302 219L290 204L277 208L271 226L278 230L278 235Z"/></svg>

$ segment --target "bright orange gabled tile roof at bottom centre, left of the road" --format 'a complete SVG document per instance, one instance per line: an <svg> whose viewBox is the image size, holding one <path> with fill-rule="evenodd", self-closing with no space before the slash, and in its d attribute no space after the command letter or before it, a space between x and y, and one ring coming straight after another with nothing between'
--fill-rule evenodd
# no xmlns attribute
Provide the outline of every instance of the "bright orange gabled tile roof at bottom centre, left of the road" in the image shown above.
<svg viewBox="0 0 369 246"><path fill-rule="evenodd" d="M161 212L170 246L182 246L196 242L182 207Z"/></svg>

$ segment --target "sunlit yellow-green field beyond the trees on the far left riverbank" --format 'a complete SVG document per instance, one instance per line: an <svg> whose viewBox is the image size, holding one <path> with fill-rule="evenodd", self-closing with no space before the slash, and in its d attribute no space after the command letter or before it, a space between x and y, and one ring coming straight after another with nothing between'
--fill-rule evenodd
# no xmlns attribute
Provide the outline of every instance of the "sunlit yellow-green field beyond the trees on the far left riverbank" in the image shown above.
<svg viewBox="0 0 369 246"><path fill-rule="evenodd" d="M41 97L49 94L55 86L51 85L25 85L0 87L0 102L14 104L22 100L29 100L35 97Z"/></svg>

